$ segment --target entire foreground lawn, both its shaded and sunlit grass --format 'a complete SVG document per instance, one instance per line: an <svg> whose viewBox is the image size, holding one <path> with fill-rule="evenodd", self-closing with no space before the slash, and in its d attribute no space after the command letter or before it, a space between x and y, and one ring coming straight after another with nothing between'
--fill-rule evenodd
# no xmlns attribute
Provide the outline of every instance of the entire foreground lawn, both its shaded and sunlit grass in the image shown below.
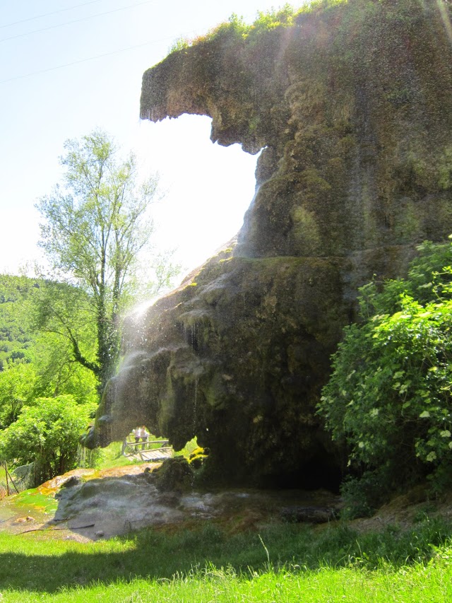
<svg viewBox="0 0 452 603"><path fill-rule="evenodd" d="M452 525L359 534L347 525L215 522L82 544L0 533L4 602L446 602Z"/></svg>

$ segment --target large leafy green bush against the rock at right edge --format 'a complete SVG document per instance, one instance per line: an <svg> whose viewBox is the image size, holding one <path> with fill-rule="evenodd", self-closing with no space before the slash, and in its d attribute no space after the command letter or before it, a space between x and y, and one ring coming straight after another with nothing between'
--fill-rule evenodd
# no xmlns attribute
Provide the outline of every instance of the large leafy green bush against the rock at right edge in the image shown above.
<svg viewBox="0 0 452 603"><path fill-rule="evenodd" d="M451 480L452 244L418 251L408 279L360 290L362 322L345 329L319 404L363 488L383 496Z"/></svg>

